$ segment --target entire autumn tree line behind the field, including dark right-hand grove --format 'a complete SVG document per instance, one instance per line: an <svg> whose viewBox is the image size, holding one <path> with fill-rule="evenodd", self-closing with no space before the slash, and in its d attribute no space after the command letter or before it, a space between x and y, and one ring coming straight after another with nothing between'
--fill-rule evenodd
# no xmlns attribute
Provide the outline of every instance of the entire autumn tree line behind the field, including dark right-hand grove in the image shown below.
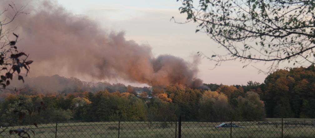
<svg viewBox="0 0 315 138"><path fill-rule="evenodd" d="M45 110L26 116L46 120L263 120L264 118L314 118L314 66L277 70L264 83L247 85L205 84L209 89L170 84L135 92L76 92L50 95L8 95L0 105L1 120L17 117L15 110ZM1 121L1 122L3 122ZM4 121L5 122L5 121Z"/></svg>

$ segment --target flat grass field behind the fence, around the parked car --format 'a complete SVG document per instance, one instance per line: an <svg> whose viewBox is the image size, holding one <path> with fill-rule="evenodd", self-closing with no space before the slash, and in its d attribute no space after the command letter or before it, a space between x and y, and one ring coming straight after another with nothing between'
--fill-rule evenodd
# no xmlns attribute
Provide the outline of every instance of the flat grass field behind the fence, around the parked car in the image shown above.
<svg viewBox="0 0 315 138"><path fill-rule="evenodd" d="M287 120L287 119L285 119ZM291 122L295 118L292 118ZM303 121L301 121L303 120ZM268 122L279 122L277 118L268 118ZM281 119L280 119L281 122ZM293 121L292 121L293 122ZM300 122L304 122L304 119L300 119ZM307 119L306 122L314 122L314 120ZM249 138L249 137L281 137L281 124L278 125L258 125L257 122L233 122L244 128L232 128L233 138ZM214 126L221 124L221 122L182 122L181 135L182 138L204 138L204 137L218 137L226 138L230 137L230 128L215 129ZM120 122L119 136L120 138L129 137L152 137L152 138L175 138L175 122L168 122L167 124L161 122L152 122L150 125L148 122ZM55 137L56 124L39 124L38 128L35 126L20 126L10 127L4 132L3 137L17 137L17 135L9 135L10 129L17 128L31 128L35 131L34 137ZM0 129L1 130L1 129ZM312 125L286 125L283 126L284 137L315 137L315 126ZM176 134L178 136L178 134ZM118 122L88 122L88 123L59 123L57 126L57 137L100 137L100 138L117 138L118 137Z"/></svg>

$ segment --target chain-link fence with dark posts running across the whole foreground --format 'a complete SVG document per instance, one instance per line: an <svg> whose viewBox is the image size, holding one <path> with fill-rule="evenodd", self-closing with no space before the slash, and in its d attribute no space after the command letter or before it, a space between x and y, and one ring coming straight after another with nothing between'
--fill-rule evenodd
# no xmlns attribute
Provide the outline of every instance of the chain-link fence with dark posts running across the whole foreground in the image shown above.
<svg viewBox="0 0 315 138"><path fill-rule="evenodd" d="M5 123L0 123L4 125ZM26 133L24 133L26 132ZM10 134L11 133L11 134ZM20 133L20 134L19 134ZM20 135L20 136L19 136ZM314 138L315 119L268 121L51 121L1 126L0 137Z"/></svg>

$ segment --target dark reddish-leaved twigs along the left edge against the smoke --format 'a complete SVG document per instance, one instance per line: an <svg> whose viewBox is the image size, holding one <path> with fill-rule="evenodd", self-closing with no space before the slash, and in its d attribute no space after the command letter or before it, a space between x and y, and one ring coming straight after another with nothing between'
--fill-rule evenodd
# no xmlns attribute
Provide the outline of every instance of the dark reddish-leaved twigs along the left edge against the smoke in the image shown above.
<svg viewBox="0 0 315 138"><path fill-rule="evenodd" d="M17 43L19 35L13 33L10 28L12 23L17 16L20 14L27 14L23 12L25 7L17 8L14 3L9 3L8 7L0 12L0 90L10 85L10 80L13 79L14 75L18 76L18 79L24 82L23 76L20 72L25 69L26 75L29 72L29 65L33 62L28 60L29 55L23 51L18 50ZM13 34L15 40L10 40L10 35ZM8 89L15 90L16 89Z"/></svg>

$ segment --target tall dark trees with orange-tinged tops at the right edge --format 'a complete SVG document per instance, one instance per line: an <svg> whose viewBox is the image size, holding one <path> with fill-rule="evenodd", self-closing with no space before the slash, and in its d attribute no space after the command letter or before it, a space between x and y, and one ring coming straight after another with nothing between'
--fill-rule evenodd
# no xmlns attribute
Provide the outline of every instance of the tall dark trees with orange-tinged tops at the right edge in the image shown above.
<svg viewBox="0 0 315 138"><path fill-rule="evenodd" d="M267 76L261 98L266 103L267 117L312 116L315 95L314 66L277 70ZM314 113L314 112L313 112Z"/></svg>

